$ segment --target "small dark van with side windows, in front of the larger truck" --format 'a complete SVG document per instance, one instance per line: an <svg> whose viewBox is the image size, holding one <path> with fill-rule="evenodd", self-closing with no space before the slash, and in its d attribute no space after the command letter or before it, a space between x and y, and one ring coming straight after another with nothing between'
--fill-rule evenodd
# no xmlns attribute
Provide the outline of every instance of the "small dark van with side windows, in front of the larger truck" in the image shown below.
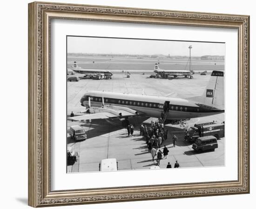
<svg viewBox="0 0 256 209"><path fill-rule="evenodd" d="M192 148L195 151L205 151L212 150L214 151L218 148L218 141L216 137L207 136L207 137L199 137L195 140L195 143L192 145Z"/></svg>

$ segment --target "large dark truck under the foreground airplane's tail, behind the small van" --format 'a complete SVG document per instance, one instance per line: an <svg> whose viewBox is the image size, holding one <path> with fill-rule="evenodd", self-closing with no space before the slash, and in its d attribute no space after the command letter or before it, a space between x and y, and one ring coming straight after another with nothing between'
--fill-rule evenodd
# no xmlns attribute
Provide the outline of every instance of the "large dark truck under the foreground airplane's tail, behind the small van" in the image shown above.
<svg viewBox="0 0 256 209"><path fill-rule="evenodd" d="M186 131L185 139L194 142L198 137L214 136L217 139L224 137L224 124L209 122L204 124L195 124Z"/></svg>

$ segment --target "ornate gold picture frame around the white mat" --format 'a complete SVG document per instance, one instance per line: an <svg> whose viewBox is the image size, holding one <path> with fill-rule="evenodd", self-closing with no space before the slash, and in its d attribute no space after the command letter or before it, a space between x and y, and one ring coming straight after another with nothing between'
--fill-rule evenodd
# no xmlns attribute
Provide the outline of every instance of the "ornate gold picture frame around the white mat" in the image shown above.
<svg viewBox="0 0 256 209"><path fill-rule="evenodd" d="M231 28L238 31L237 180L51 189L51 21ZM28 204L33 207L249 193L249 16L33 2L28 5ZM63 43L65 44L65 43ZM63 148L64 149L64 148Z"/></svg>

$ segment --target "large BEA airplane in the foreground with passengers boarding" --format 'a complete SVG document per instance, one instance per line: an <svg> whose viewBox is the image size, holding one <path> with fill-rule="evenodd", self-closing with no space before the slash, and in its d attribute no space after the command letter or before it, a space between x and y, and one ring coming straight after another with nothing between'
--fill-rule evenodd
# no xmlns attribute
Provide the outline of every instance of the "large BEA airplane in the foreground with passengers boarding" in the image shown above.
<svg viewBox="0 0 256 209"><path fill-rule="evenodd" d="M71 121L90 119L125 118L139 115L160 118L164 112L167 120L186 120L224 112L224 72L213 71L209 83L199 97L182 99L148 95L88 91L81 100L86 107L80 116ZM87 113L87 114L86 114Z"/></svg>

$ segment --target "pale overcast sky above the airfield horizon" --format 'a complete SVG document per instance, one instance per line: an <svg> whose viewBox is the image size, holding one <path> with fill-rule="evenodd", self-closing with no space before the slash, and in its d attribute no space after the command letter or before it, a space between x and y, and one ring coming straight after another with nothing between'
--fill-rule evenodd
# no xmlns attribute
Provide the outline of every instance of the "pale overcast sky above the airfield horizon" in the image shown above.
<svg viewBox="0 0 256 209"><path fill-rule="evenodd" d="M191 41L112 39L92 37L68 37L68 53L108 54L164 54L170 56L225 55L223 43L201 43Z"/></svg>

